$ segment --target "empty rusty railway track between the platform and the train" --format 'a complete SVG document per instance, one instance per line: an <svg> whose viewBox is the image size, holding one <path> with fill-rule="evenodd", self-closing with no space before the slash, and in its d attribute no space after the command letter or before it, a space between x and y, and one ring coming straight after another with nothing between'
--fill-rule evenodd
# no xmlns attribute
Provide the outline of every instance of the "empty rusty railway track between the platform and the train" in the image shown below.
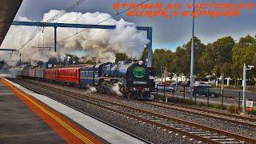
<svg viewBox="0 0 256 144"><path fill-rule="evenodd" d="M83 94L77 94L68 90L60 90L58 88L39 84L37 82L20 82L30 89L42 93L48 91L52 94L62 94L68 98L76 98L82 102L98 106L104 110L110 110L117 114L122 114L127 118L136 119L140 122L146 122L162 130L174 131L177 134L186 135L189 138L195 138L200 142L206 143L256 143L256 139L248 138L242 135L233 134L224 130L214 129L208 126L202 126L192 122L187 122L178 118L171 118L166 115L156 114L147 110L140 110L132 106L126 106L118 102L110 102L101 98L94 98ZM39 89L39 90L38 90ZM41 91L41 92L40 92Z"/></svg>

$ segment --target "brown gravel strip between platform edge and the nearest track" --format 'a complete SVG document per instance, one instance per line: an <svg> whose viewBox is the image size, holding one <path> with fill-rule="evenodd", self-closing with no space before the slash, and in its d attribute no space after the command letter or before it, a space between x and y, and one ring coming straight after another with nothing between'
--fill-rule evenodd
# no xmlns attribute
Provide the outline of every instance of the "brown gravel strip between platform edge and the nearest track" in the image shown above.
<svg viewBox="0 0 256 144"><path fill-rule="evenodd" d="M15 81L14 82L18 82ZM26 85L26 83L18 82L21 85ZM54 84L48 84L48 86L52 86ZM58 88L62 87L64 90L69 90L68 86L56 86ZM138 120L134 120L133 118L127 118L122 114L114 113L110 110L104 110L99 108L98 106L90 105L87 102L82 102L75 98L67 98L62 94L53 94L46 90L41 90L40 93L50 96L54 99L57 99L60 102L64 102L68 105L74 106L78 110L82 110L87 114L90 114L96 118L100 118L105 122L108 122L114 126L118 126L122 130L126 130L131 134L138 135L138 137L146 139L152 143L198 143L198 141L193 138L187 138L182 134L175 134L173 131L162 130L156 126L152 126L147 123L139 122ZM97 95L94 93L88 92L87 94Z"/></svg>

